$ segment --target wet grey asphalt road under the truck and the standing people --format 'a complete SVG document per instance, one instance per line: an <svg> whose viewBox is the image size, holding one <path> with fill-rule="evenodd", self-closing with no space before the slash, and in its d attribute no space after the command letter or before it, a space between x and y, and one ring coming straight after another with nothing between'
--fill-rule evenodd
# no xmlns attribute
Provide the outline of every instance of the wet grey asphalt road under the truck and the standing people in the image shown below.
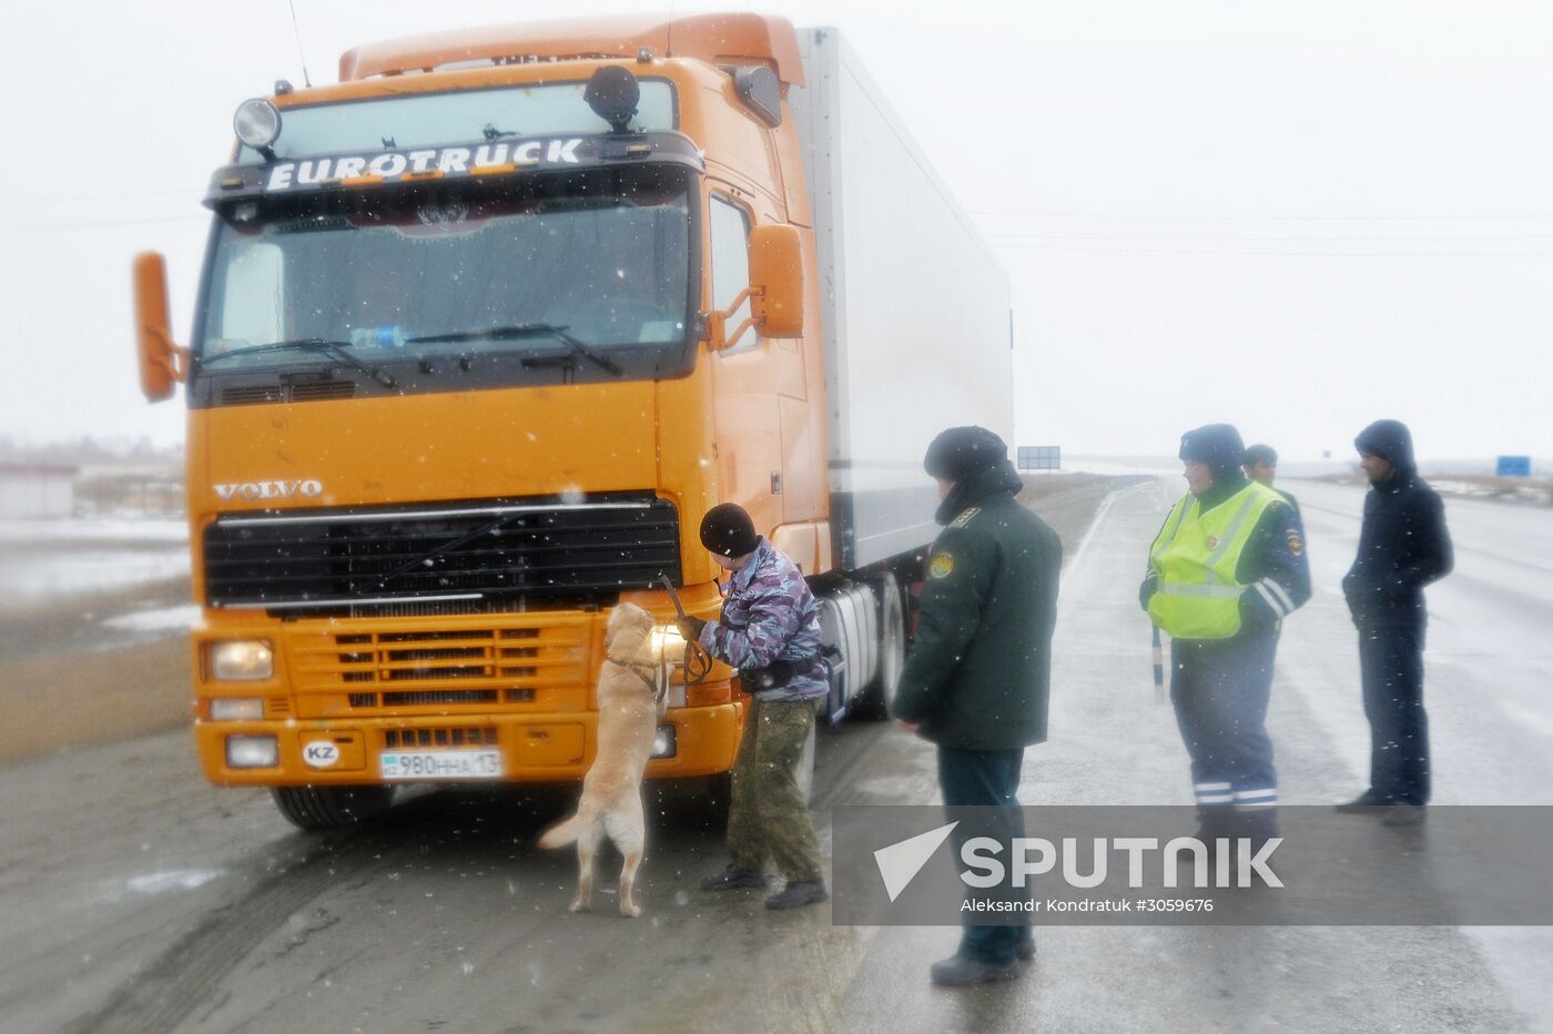
<svg viewBox="0 0 1553 1034"><path fill-rule="evenodd" d="M1190 801L1135 602L1177 488L1123 488L1070 542L1051 742L1027 756L1027 803ZM1269 727L1284 803L1314 804L1357 792L1367 764L1337 593L1360 495L1287 488L1317 595L1286 627ZM1519 559L1553 559L1553 515L1447 514L1458 573L1430 592L1426 655L1437 798L1553 803L1553 582ZM822 737L817 786L828 846L834 804L933 800L932 748L848 723ZM370 829L311 837L262 792L205 786L185 733L12 765L0 1031L1553 1029L1547 928L1054 927L1020 981L935 989L926 967L954 930L834 927L825 908L694 890L721 835L677 792L651 809L643 918L617 918L609 894L570 916L573 857L534 846L568 803L419 793Z"/></svg>

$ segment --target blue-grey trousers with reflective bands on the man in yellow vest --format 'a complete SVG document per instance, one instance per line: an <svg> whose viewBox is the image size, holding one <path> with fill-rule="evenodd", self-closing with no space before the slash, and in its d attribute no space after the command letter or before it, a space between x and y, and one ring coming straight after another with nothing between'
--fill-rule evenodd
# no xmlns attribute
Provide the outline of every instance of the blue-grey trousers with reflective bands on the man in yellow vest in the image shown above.
<svg viewBox="0 0 1553 1034"><path fill-rule="evenodd" d="M1277 629L1171 640L1171 703L1191 756L1197 817L1213 835L1277 834L1278 773L1266 728L1277 652Z"/></svg>

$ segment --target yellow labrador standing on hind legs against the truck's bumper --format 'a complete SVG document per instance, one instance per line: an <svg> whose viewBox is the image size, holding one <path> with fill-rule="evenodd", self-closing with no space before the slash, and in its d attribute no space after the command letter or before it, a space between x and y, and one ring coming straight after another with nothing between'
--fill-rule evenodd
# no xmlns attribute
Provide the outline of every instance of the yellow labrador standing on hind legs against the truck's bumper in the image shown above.
<svg viewBox="0 0 1553 1034"><path fill-rule="evenodd" d="M539 838L540 848L578 845L578 896L572 911L592 905L593 854L599 840L609 837L626 859L620 869L620 914L641 914L631 894L644 838L641 773L652 755L658 723L649 643L652 626L652 615L637 604L623 602L609 615L606 660L598 675L598 753L582 778L578 814Z"/></svg>

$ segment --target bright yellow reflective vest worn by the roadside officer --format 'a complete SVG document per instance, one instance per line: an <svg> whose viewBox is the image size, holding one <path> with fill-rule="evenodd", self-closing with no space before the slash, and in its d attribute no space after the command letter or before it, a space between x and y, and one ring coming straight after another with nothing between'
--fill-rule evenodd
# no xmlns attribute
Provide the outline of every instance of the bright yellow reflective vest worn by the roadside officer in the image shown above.
<svg viewBox="0 0 1553 1034"><path fill-rule="evenodd" d="M1241 630L1241 593L1235 579L1256 522L1278 492L1256 481L1207 514L1188 492L1171 509L1149 546L1159 592L1149 599L1154 624L1177 640L1227 640Z"/></svg>

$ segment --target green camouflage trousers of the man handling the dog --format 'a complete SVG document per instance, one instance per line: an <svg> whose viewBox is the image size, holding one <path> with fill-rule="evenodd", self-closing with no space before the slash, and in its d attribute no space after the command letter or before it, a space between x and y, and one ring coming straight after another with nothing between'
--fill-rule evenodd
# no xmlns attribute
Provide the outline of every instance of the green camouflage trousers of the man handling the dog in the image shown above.
<svg viewBox="0 0 1553 1034"><path fill-rule="evenodd" d="M814 708L812 700L752 702L733 762L728 854L742 869L761 869L770 857L789 883L823 880L809 801L797 781Z"/></svg>

